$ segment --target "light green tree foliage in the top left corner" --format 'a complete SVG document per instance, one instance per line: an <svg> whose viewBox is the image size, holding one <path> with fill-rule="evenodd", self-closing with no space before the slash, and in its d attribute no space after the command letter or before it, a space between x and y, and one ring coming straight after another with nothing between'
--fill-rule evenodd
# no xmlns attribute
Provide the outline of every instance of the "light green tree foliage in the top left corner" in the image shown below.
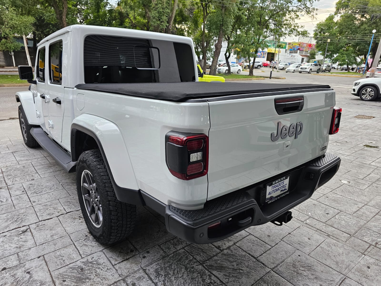
<svg viewBox="0 0 381 286"><path fill-rule="evenodd" d="M23 45L14 37L32 32L33 22L33 17L20 14L10 0L0 0L0 50L20 50Z"/></svg>

